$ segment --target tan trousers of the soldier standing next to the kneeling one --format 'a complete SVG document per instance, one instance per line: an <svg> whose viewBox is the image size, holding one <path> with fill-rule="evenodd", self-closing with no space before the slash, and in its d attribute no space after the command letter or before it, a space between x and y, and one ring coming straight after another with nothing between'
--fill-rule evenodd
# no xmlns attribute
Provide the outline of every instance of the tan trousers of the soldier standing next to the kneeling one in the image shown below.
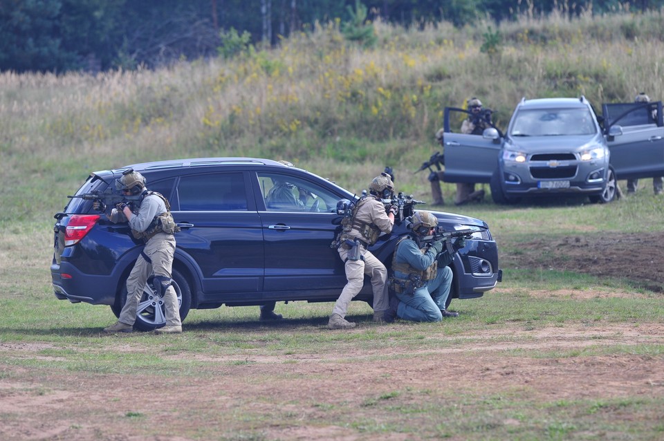
<svg viewBox="0 0 664 441"><path fill-rule="evenodd" d="M346 260L348 250L338 248L342 261ZM337 302L334 304L332 314L346 317L348 306L353 297L360 293L365 282L365 274L371 277L371 287L374 290L374 312L386 311L389 308L389 297L387 297L387 268L381 261L376 259L365 247L362 247L362 257L358 261L346 261L346 279L348 283L344 286Z"/></svg>

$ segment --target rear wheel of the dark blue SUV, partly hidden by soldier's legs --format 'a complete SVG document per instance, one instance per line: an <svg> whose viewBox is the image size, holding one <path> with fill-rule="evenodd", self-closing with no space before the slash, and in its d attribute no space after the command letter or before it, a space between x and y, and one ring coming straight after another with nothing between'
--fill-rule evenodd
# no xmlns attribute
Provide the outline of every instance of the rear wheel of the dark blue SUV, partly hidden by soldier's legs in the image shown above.
<svg viewBox="0 0 664 441"><path fill-rule="evenodd" d="M187 279L178 272L173 270L172 272L173 279L173 288L178 296L178 303L180 304L180 319L185 320L187 314L189 314L190 308L192 306L192 290L187 282ZM151 302L151 298L154 299L155 292L152 285L148 284L148 289L143 292L142 297L138 303L138 311L136 313L136 323L133 324L133 327L138 330L151 331L156 328L162 328L166 324L166 319L164 315L164 306L160 304L160 312L155 315L155 304ZM149 290L149 291L148 291ZM111 306L113 314L116 317L120 317L120 312L124 303L127 302L127 285L122 287L122 291L116 299L116 303ZM160 303L159 301L157 303Z"/></svg>

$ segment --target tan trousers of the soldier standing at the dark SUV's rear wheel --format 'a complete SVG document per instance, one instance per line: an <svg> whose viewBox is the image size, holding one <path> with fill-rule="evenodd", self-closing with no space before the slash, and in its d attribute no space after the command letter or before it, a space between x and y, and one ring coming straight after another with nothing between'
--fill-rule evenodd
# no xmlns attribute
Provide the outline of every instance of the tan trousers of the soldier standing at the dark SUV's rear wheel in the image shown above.
<svg viewBox="0 0 664 441"><path fill-rule="evenodd" d="M166 276L170 279L175 254L175 238L172 234L155 234L147 241L143 252L152 263L146 261L142 255L138 256L127 279L127 303L124 303L124 307L122 307L119 320L128 325L133 325L136 321L137 312L142 312L145 308L152 306L151 302L138 304L143 290L146 289L148 277L154 272L156 276ZM166 324L168 326L182 325L178 296L172 286L169 286L164 294L164 306ZM163 321L161 308L156 307L154 310L155 321Z"/></svg>

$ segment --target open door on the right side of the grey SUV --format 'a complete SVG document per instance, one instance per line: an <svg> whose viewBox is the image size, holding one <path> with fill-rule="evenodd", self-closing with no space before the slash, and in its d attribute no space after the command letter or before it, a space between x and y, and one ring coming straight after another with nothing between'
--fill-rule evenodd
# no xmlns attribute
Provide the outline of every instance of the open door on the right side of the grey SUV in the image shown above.
<svg viewBox="0 0 664 441"><path fill-rule="evenodd" d="M664 176L664 124L661 102L602 104L611 166L618 179ZM620 126L622 135L609 135Z"/></svg>

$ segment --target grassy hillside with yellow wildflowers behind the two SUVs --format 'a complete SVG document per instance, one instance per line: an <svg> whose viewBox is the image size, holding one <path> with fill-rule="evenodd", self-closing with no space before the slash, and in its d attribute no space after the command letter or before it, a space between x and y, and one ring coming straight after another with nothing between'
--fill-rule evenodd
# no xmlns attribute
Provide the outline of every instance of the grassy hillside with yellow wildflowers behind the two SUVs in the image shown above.
<svg viewBox="0 0 664 441"><path fill-rule="evenodd" d="M50 216L97 169L189 156L259 156L359 191L394 167L399 189L429 198L445 106L481 97L504 124L521 97L662 97L661 14L517 23L375 25L378 43L344 41L338 24L243 46L230 59L158 71L0 75L0 222ZM452 186L446 185L445 194Z"/></svg>

